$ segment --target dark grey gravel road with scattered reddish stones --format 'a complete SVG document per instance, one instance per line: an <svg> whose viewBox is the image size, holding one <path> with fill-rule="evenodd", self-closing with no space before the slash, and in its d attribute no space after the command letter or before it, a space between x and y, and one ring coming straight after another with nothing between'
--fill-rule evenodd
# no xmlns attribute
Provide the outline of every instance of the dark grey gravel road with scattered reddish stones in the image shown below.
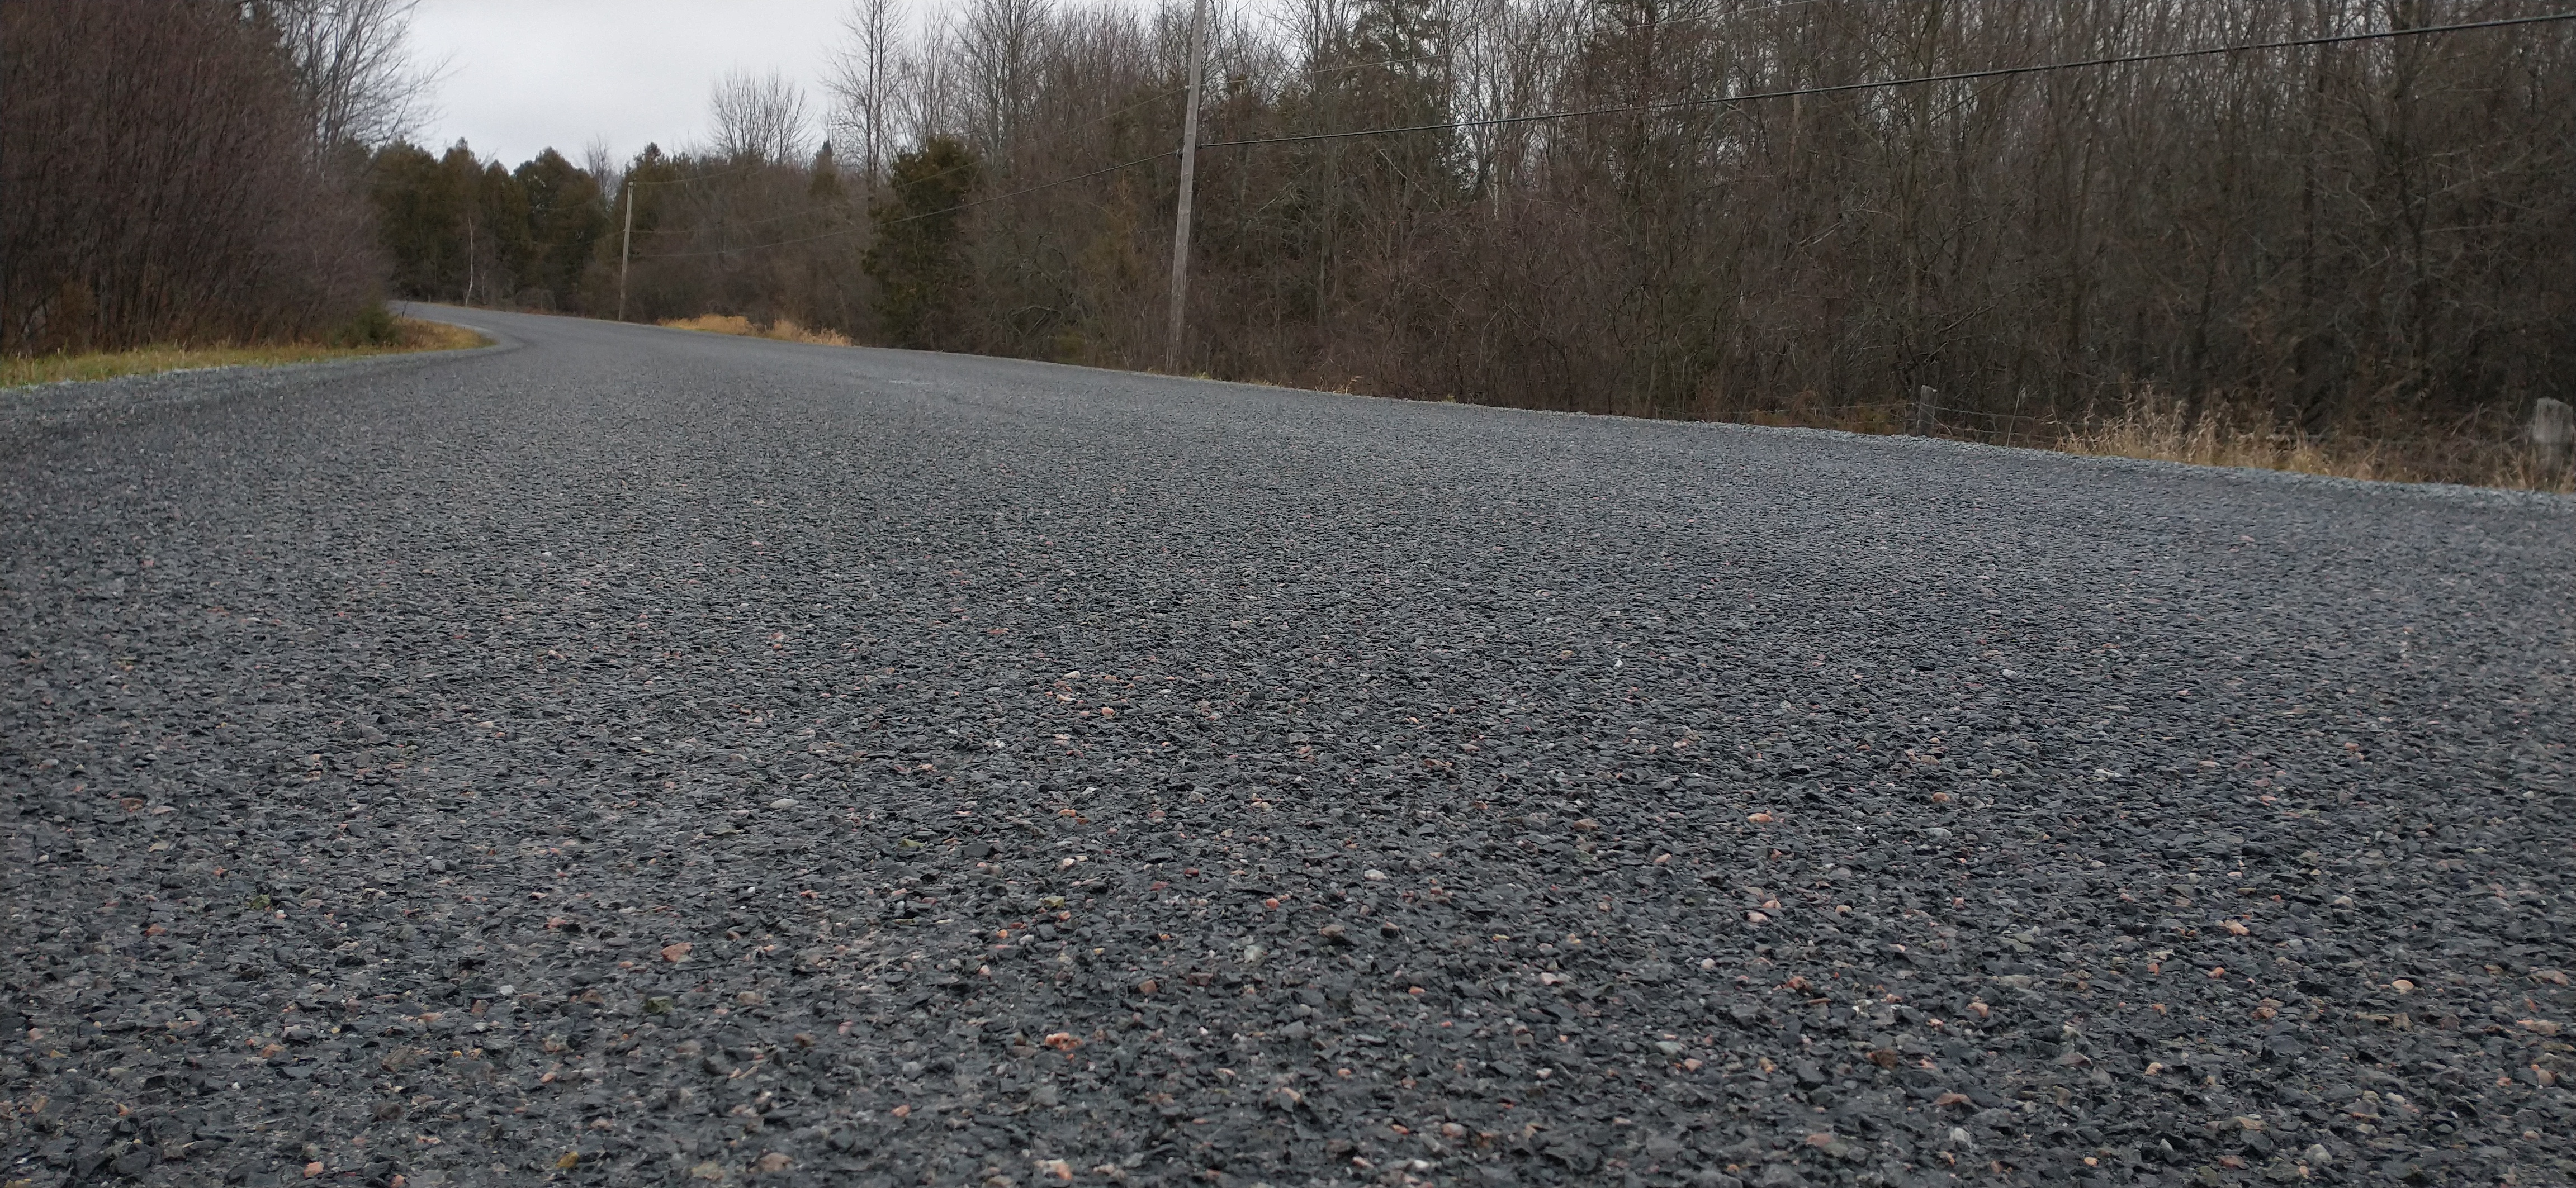
<svg viewBox="0 0 2576 1188"><path fill-rule="evenodd" d="M0 397L0 1180L2568 1183L2576 505L451 312Z"/></svg>

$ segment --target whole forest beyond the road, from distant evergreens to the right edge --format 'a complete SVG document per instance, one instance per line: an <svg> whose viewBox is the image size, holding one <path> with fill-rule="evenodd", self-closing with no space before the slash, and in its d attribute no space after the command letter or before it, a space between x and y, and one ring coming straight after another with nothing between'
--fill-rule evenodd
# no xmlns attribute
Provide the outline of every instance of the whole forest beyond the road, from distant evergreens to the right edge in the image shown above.
<svg viewBox="0 0 2576 1188"><path fill-rule="evenodd" d="M85 5L8 0L13 67L31 8ZM701 144L515 168L312 119L296 5L160 8L286 31L312 186L263 216L276 283L343 268L314 307L2563 482L2517 433L2576 387L2568 23L1777 95L2543 0L1218 0L1180 358L1188 3L858 0L824 95L734 75ZM8 348L64 294L8 289Z"/></svg>

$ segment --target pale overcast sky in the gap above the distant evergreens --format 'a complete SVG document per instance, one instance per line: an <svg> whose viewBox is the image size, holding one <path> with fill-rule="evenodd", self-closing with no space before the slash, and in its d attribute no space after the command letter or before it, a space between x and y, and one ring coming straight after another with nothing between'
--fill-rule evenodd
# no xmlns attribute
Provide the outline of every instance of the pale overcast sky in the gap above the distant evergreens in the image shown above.
<svg viewBox="0 0 2576 1188"><path fill-rule="evenodd" d="M922 0L935 3L935 0ZM415 139L464 137L518 165L554 147L574 165L605 139L626 162L706 137L706 95L726 70L781 70L819 113L822 62L845 0L422 0L412 52L448 62L438 113ZM912 8L920 8L914 3ZM819 131L819 129L817 129Z"/></svg>

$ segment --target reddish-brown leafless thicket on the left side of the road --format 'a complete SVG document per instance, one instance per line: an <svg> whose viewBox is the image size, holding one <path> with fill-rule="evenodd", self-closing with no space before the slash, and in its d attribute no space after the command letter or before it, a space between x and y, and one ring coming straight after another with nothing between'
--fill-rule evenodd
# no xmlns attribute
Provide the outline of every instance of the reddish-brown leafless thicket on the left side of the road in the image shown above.
<svg viewBox="0 0 2576 1188"><path fill-rule="evenodd" d="M0 3L0 353L371 335L412 0Z"/></svg>

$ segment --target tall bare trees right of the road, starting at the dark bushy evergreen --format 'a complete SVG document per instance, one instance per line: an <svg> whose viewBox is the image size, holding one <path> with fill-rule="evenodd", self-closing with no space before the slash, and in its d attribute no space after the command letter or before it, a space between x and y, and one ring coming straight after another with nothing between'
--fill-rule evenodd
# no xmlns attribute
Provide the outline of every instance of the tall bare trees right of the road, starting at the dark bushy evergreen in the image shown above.
<svg viewBox="0 0 2576 1188"><path fill-rule="evenodd" d="M1177 139L1182 5L974 0L891 52L881 8L835 90L896 175L953 142L989 198ZM2576 363L2563 23L1728 95L2550 8L1221 8L1185 366L1656 417L1911 417L1929 387L1963 430L2148 389L2306 433L2517 417ZM1592 116L1473 124L1561 111ZM1427 131L1296 139L1388 126ZM966 211L920 340L1159 363L1175 183L1157 160Z"/></svg>

